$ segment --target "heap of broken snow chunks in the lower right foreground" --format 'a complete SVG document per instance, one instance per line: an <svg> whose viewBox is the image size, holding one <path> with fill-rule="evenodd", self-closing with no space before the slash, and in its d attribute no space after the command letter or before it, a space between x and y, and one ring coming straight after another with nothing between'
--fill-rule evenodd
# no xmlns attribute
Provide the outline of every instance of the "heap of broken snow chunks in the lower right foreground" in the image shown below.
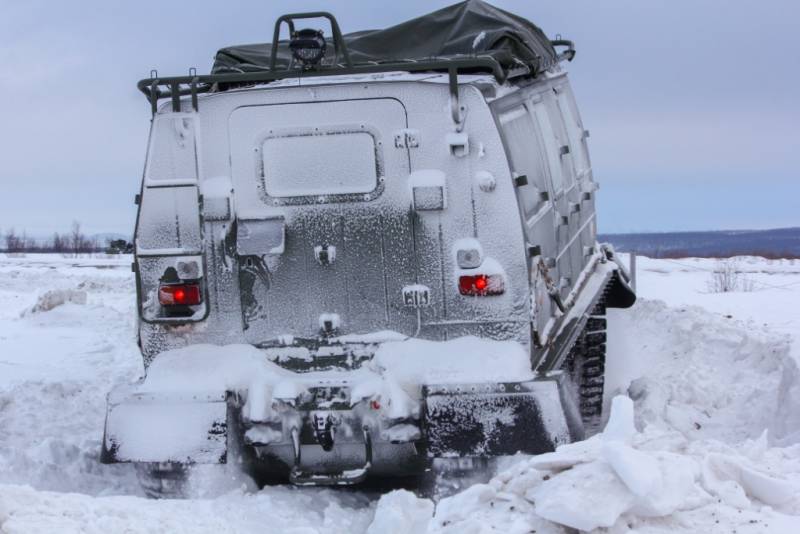
<svg viewBox="0 0 800 534"><path fill-rule="evenodd" d="M719 452L718 442L698 442L687 451L687 443L674 435L639 433L633 422L633 402L616 397L605 432L520 461L488 484L442 500L432 531L526 524L537 532L559 532L553 525L542 528L541 520L581 531L624 531L648 518L680 522L683 513L713 514L726 507L763 513L763 505L774 507L777 511L767 515L779 521L784 513L800 513L800 485L781 474L800 468L800 446L784 449L770 470L747 456L763 456L765 439L739 451Z"/></svg>

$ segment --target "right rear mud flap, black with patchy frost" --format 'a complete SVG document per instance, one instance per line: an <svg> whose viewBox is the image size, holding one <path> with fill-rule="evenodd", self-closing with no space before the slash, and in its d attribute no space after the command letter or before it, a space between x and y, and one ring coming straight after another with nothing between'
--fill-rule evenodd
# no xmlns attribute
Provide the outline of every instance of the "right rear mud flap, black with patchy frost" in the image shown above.
<svg viewBox="0 0 800 534"><path fill-rule="evenodd" d="M576 408L560 377L423 388L430 458L541 454L580 439Z"/></svg>

